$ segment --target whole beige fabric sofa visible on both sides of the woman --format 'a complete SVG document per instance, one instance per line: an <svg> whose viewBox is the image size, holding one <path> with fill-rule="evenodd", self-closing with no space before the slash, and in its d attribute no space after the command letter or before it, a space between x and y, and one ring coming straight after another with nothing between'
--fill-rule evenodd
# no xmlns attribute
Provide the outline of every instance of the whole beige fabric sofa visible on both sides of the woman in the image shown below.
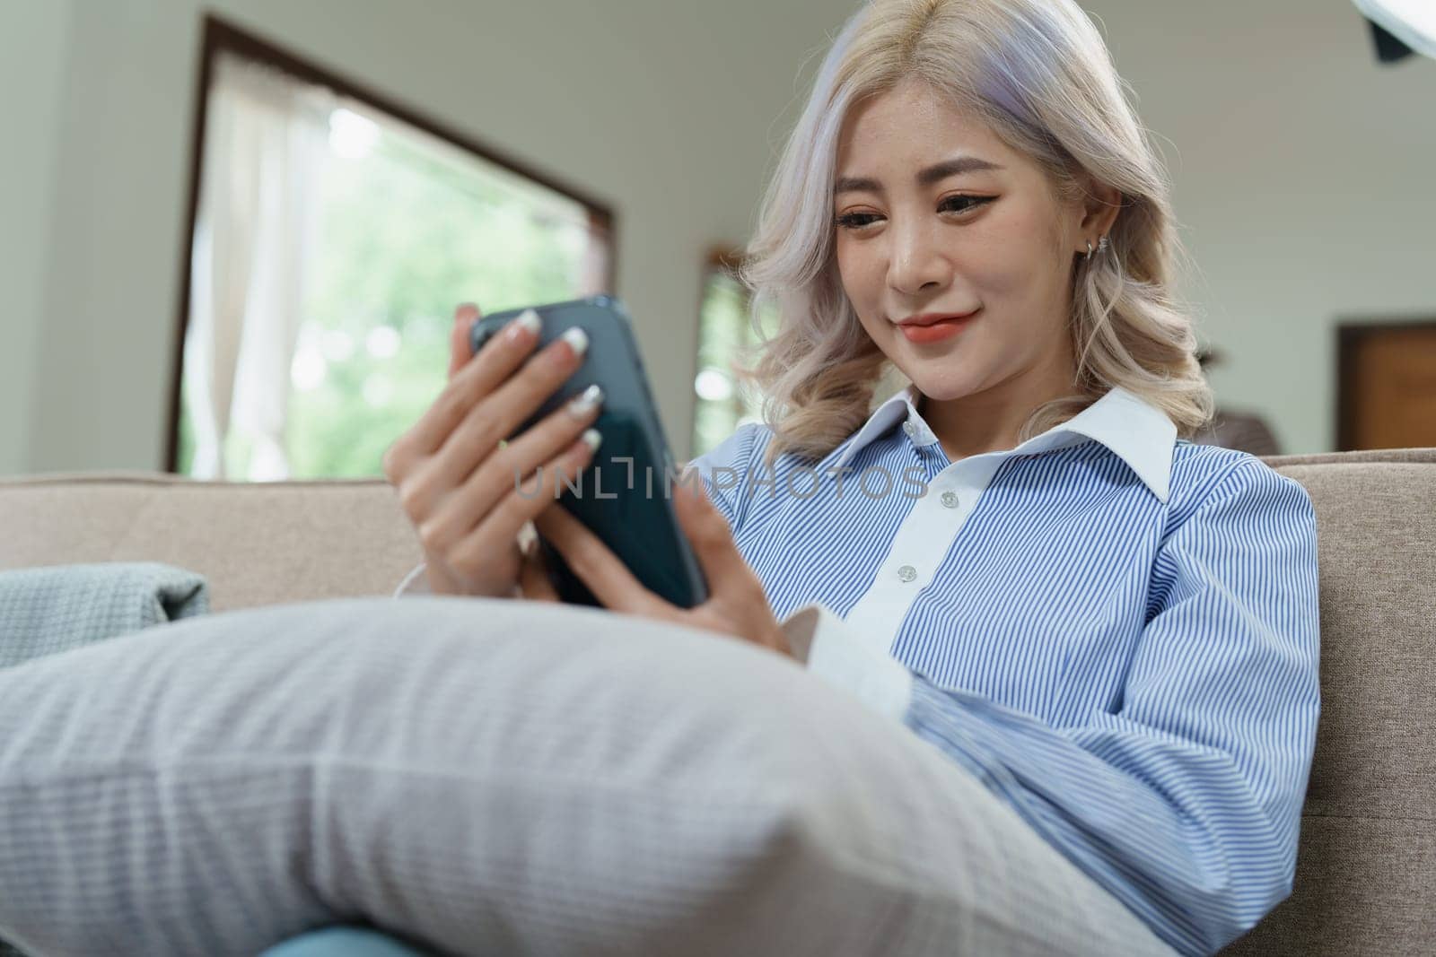
<svg viewBox="0 0 1436 957"><path fill-rule="evenodd" d="M1323 712L1295 891L1228 953L1436 953L1436 449L1268 462L1317 508ZM381 481L10 478L0 531L0 570L164 561L215 611L389 594L421 560Z"/></svg>

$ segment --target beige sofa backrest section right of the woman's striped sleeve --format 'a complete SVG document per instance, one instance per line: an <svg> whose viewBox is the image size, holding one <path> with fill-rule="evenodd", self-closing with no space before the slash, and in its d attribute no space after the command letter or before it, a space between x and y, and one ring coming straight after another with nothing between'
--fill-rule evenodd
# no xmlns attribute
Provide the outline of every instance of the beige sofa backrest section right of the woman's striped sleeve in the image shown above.
<svg viewBox="0 0 1436 957"><path fill-rule="evenodd" d="M1223 953L1436 953L1436 449L1265 461L1317 509L1321 720L1295 888Z"/></svg>

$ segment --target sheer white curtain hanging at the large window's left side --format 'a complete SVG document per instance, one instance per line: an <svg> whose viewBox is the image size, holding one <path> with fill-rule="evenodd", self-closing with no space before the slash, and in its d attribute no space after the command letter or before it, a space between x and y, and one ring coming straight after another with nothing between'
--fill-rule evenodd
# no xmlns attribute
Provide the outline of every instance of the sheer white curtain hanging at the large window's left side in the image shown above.
<svg viewBox="0 0 1436 957"><path fill-rule="evenodd" d="M191 473L289 476L284 420L327 158L327 90L221 53L208 90L184 387ZM225 438L253 442L244 475Z"/></svg>

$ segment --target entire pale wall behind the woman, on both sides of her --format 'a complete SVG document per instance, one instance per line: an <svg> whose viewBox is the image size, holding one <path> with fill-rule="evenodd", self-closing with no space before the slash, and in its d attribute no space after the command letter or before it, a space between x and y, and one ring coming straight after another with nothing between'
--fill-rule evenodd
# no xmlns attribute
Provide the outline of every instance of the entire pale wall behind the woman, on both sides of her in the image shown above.
<svg viewBox="0 0 1436 957"><path fill-rule="evenodd" d="M686 451L702 255L747 237L847 0L207 6L610 202ZM1335 319L1436 313L1436 62L1379 67L1347 0L1086 6L1170 141L1219 396L1328 448ZM200 23L200 0L0 3L7 116L26 96L0 151L0 471L161 465Z"/></svg>

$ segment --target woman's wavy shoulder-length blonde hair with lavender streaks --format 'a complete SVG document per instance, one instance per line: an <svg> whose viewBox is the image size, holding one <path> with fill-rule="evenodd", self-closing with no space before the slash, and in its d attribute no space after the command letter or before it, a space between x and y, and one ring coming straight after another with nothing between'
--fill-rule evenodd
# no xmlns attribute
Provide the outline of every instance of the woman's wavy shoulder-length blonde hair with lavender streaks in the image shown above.
<svg viewBox="0 0 1436 957"><path fill-rule="evenodd" d="M913 76L1035 161L1058 199L1083 195L1083 171L1122 194L1107 251L1073 264L1074 392L1038 406L1020 440L1113 386L1152 402L1190 438L1211 420L1212 395L1192 321L1169 288L1185 255L1170 184L1096 26L1071 0L872 0L823 60L738 270L758 346L737 373L763 396L774 432L768 463L783 452L824 458L870 415L876 386L895 370L843 291L833 178L849 109ZM770 337L761 317L773 311Z"/></svg>

